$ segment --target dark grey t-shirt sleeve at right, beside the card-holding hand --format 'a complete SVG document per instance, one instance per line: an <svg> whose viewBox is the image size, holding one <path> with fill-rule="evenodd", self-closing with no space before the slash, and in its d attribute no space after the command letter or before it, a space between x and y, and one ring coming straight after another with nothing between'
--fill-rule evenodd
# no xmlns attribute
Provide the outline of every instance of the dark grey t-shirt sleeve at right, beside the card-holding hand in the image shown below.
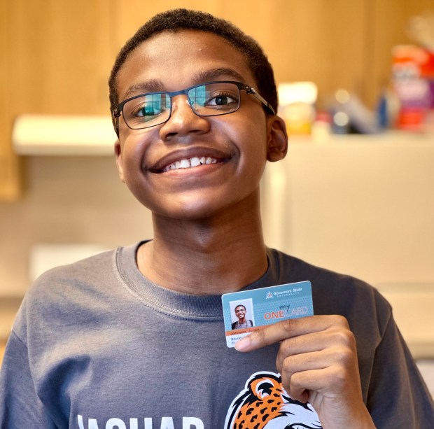
<svg viewBox="0 0 434 429"><path fill-rule="evenodd" d="M378 429L428 428L434 404L391 316L375 352L367 409Z"/></svg>

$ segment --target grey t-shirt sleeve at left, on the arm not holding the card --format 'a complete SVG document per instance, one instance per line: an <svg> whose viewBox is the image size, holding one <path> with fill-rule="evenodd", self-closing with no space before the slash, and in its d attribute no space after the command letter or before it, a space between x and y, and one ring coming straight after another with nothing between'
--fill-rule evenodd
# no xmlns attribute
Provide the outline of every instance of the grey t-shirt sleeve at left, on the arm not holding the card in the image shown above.
<svg viewBox="0 0 434 429"><path fill-rule="evenodd" d="M10 334L1 365L0 428L55 428L36 395L27 347L15 332Z"/></svg>

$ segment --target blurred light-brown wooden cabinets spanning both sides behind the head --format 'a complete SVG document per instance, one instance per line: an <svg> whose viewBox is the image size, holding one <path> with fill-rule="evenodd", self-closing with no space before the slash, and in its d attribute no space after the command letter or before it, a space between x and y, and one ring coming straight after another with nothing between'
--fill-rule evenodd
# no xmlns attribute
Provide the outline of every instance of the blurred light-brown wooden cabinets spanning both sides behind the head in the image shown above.
<svg viewBox="0 0 434 429"><path fill-rule="evenodd" d="M119 48L155 13L206 10L255 37L276 80L313 80L320 104L339 87L373 107L391 47L409 43L409 17L432 0L0 0L0 199L18 197L10 145L23 113L109 113L107 80Z"/></svg>

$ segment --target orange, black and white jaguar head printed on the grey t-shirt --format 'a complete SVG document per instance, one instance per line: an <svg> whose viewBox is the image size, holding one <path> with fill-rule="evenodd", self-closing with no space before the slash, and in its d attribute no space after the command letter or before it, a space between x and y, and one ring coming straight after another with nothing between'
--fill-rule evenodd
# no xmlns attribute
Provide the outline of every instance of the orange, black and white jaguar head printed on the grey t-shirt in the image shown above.
<svg viewBox="0 0 434 429"><path fill-rule="evenodd" d="M309 404L293 400L280 374L257 372L230 405L225 429L321 429Z"/></svg>

